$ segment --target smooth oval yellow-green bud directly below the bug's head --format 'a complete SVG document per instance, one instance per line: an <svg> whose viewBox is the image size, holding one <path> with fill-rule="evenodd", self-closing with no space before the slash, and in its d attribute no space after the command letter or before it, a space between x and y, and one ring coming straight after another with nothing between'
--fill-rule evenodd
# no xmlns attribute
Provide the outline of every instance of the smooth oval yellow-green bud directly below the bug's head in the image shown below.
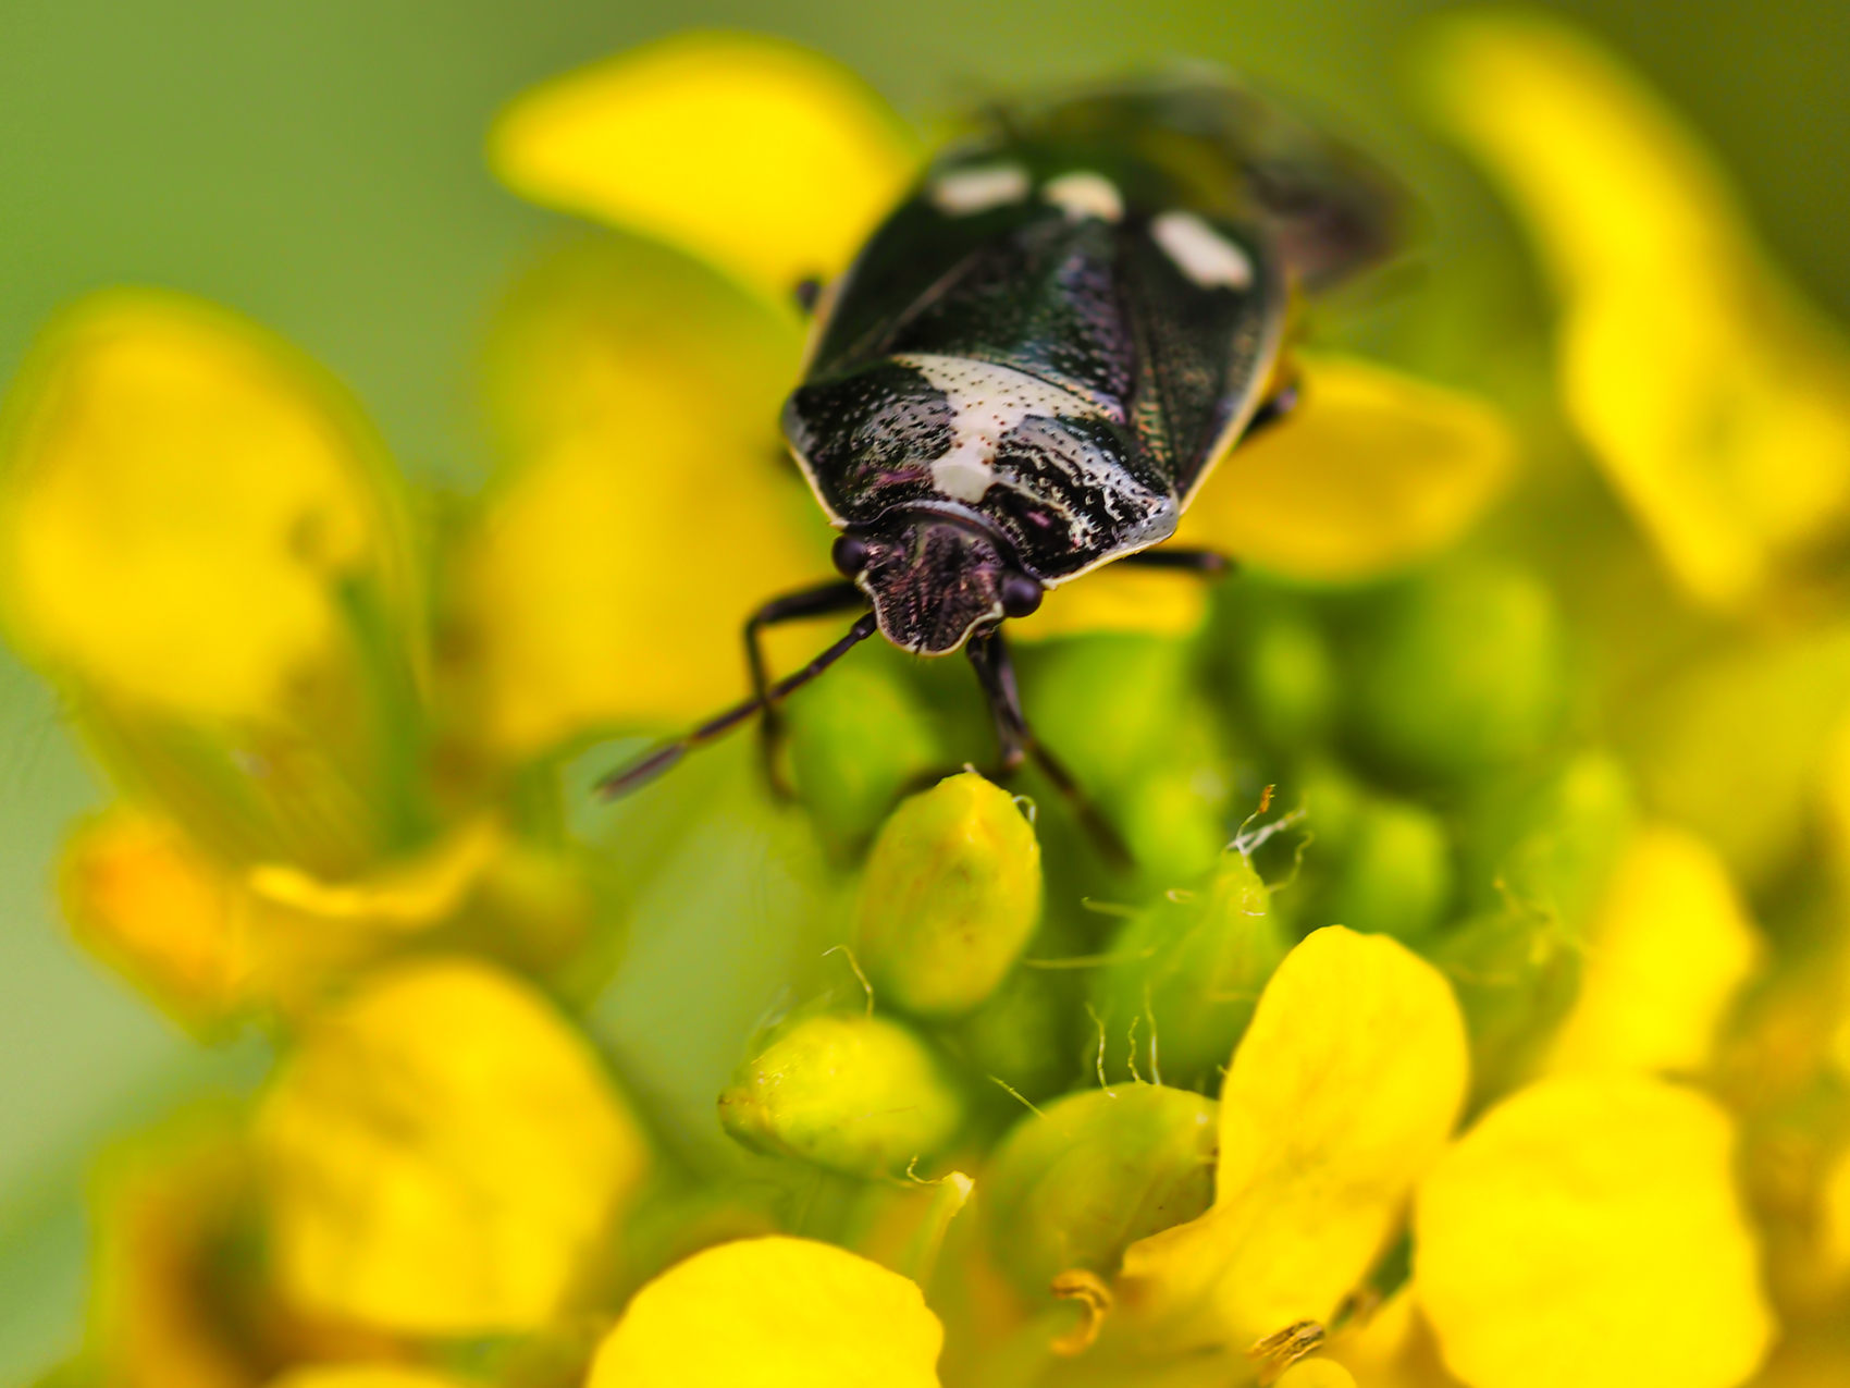
<svg viewBox="0 0 1850 1388"><path fill-rule="evenodd" d="M881 829L855 953L882 1001L956 1016L995 992L1040 909L1034 827L1006 790L964 772L906 799Z"/></svg>

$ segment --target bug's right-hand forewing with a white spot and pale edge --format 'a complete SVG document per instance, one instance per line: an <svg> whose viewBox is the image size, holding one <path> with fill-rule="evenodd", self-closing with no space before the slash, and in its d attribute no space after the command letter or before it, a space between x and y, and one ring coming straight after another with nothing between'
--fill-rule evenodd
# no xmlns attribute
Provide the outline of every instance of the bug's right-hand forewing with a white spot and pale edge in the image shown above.
<svg viewBox="0 0 1850 1388"><path fill-rule="evenodd" d="M1212 255L1247 274L1215 279L1204 272ZM1251 226L1190 213L1123 228L1119 263L1138 361L1130 422L1186 503L1260 405L1286 278Z"/></svg>

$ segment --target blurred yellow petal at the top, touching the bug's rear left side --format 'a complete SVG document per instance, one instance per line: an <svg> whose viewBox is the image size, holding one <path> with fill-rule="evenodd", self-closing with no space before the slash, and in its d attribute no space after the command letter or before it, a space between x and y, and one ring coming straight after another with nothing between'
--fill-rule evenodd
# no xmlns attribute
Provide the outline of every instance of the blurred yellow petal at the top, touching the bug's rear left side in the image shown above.
<svg viewBox="0 0 1850 1388"><path fill-rule="evenodd" d="M553 78L501 113L488 157L516 192L690 250L779 304L844 270L919 163L855 74L751 33Z"/></svg>

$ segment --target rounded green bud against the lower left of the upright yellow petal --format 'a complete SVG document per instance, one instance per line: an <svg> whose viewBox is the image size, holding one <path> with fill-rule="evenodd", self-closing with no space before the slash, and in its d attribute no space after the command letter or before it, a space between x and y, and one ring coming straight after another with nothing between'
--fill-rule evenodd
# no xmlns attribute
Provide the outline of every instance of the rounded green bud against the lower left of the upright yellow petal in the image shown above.
<svg viewBox="0 0 1850 1388"><path fill-rule="evenodd" d="M1214 1203L1215 1103L1162 1084L1069 1094L1023 1118L982 1183L997 1266L1029 1297L1058 1273L1112 1277L1140 1238Z"/></svg>

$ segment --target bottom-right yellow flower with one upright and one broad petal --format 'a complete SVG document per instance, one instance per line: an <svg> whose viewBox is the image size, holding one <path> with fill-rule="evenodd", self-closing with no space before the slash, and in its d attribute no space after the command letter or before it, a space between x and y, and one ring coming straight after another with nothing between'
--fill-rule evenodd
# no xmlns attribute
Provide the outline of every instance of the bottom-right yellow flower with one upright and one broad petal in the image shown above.
<svg viewBox="0 0 1850 1388"><path fill-rule="evenodd" d="M1214 1208L1125 1255L1145 1342L1243 1351L1332 1325L1413 1199L1412 1297L1471 1388L1743 1382L1772 1321L1720 1107L1643 1077L1556 1079L1447 1146L1465 1068L1430 964L1382 936L1308 936L1227 1072Z"/></svg>

